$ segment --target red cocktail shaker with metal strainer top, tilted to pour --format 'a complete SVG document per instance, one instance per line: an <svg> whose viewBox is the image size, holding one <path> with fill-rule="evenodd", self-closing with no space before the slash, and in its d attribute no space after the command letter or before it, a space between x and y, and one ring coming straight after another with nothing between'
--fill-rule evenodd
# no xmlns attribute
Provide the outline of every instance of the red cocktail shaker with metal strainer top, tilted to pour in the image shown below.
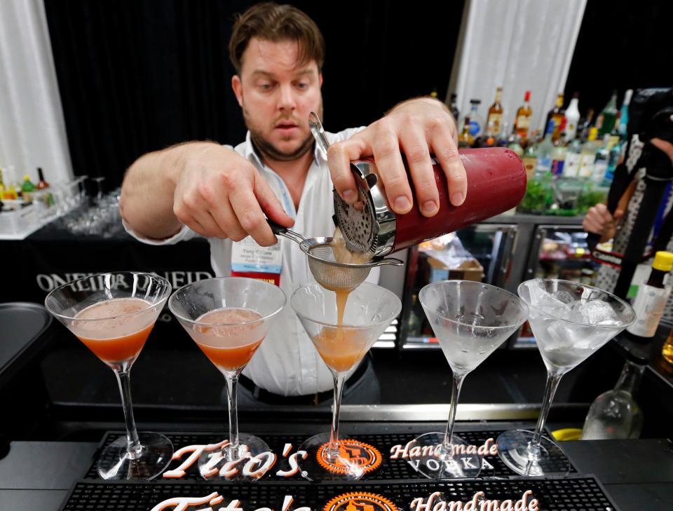
<svg viewBox="0 0 673 511"><path fill-rule="evenodd" d="M379 183L376 164L373 161L352 163L360 200L348 204L334 191L334 221L341 229L346 246L358 252L370 251L376 258L383 257L494 217L519 204L526 192L526 169L514 151L504 147L464 149L460 156L468 177L465 202L458 207L451 205L447 178L433 158L440 209L430 218L423 217L419 210L412 179L409 183L414 191L414 207L407 214L395 214Z"/></svg>

